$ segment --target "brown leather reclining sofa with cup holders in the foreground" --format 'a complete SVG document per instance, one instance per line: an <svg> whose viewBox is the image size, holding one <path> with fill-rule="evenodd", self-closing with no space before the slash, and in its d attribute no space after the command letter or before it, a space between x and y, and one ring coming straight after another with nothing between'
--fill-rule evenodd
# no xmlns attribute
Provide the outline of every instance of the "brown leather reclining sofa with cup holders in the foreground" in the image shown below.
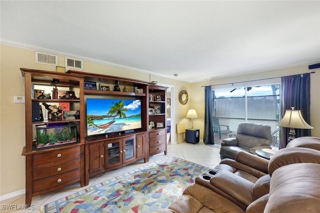
<svg viewBox="0 0 320 213"><path fill-rule="evenodd" d="M228 169L208 169L160 212L320 212L319 141L292 140L272 155L268 174L255 182Z"/></svg>

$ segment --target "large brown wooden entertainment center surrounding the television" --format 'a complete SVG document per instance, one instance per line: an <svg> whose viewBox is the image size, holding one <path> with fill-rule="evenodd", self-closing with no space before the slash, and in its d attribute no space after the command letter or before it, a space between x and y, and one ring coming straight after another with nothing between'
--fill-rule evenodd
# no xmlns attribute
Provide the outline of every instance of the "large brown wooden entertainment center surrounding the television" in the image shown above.
<svg viewBox="0 0 320 213"><path fill-rule="evenodd" d="M166 87L76 70L66 73L20 70L25 82L25 146L22 155L25 156L27 205L31 204L32 196L75 182L83 187L97 174L140 159L147 162L153 154L167 153ZM98 84L106 85L101 89L108 90L100 90ZM52 96L44 89L53 89ZM57 95L56 90L64 93ZM39 91L42 93L38 96ZM87 136L85 106L88 97L139 100L141 127ZM67 112L75 114L70 118ZM50 142L43 142L43 138Z"/></svg>

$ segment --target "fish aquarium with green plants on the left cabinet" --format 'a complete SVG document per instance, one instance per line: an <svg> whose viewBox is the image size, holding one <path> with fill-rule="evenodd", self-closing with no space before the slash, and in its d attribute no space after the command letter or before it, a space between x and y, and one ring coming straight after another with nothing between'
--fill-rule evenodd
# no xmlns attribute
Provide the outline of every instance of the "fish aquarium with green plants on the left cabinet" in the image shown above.
<svg viewBox="0 0 320 213"><path fill-rule="evenodd" d="M37 125L35 148L49 148L57 145L66 145L79 142L75 123L67 125Z"/></svg>

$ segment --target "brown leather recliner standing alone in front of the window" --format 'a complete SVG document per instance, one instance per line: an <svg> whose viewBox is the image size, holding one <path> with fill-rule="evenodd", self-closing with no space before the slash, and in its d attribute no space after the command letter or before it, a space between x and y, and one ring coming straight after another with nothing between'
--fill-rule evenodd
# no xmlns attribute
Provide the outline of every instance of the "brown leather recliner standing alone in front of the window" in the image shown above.
<svg viewBox="0 0 320 213"><path fill-rule="evenodd" d="M221 142L220 158L234 159L239 150L255 153L260 148L270 148L271 126L257 123L239 123L236 137Z"/></svg>

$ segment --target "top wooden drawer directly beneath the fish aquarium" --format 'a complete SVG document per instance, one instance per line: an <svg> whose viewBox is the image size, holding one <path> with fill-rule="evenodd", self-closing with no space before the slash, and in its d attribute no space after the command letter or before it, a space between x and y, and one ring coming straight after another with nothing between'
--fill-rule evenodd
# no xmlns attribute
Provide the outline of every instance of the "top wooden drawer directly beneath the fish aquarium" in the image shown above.
<svg viewBox="0 0 320 213"><path fill-rule="evenodd" d="M32 163L33 165L44 164L54 162L56 160L65 160L69 157L79 158L80 146L54 150L50 152L42 152L40 154L34 154Z"/></svg>

